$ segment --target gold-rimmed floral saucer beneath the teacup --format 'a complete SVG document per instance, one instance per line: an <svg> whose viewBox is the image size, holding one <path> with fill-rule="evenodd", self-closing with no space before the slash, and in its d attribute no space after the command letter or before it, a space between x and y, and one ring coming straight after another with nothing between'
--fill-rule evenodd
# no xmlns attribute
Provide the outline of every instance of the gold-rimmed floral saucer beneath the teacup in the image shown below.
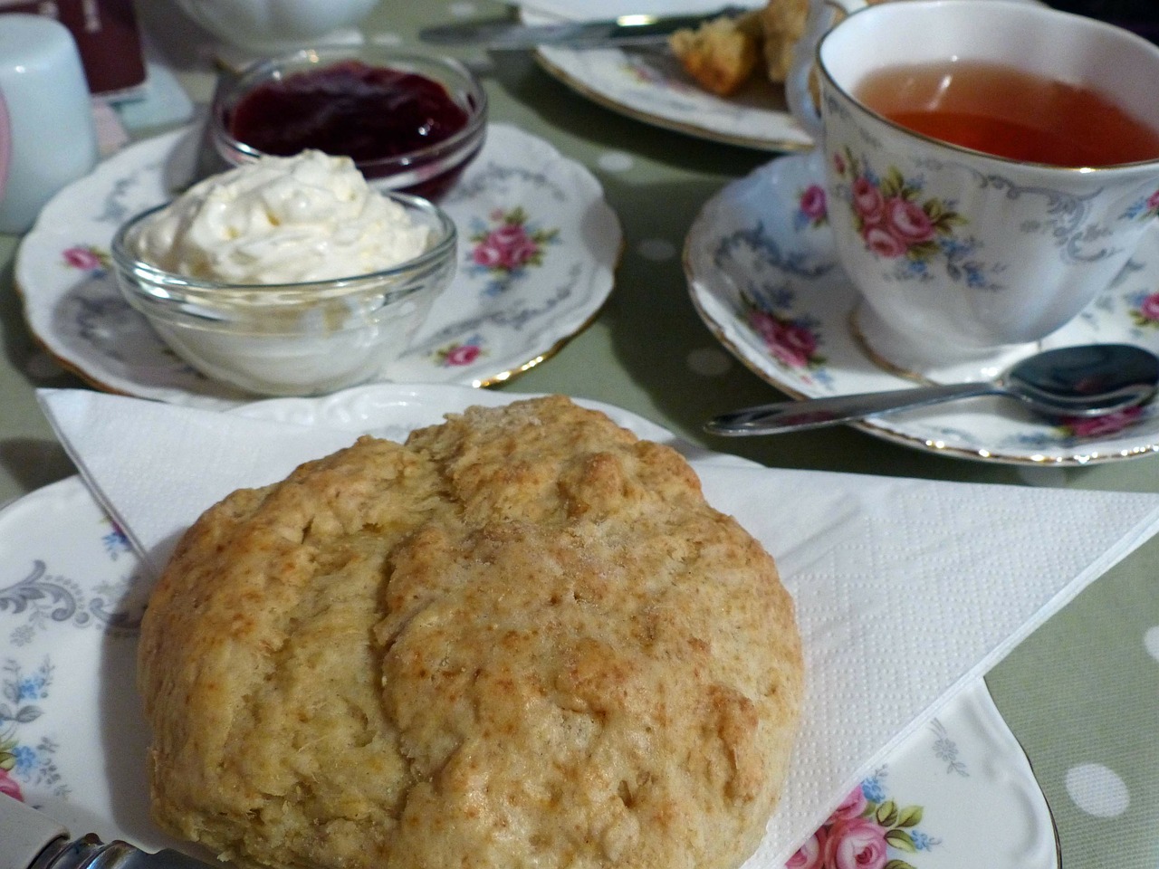
<svg viewBox="0 0 1159 869"><path fill-rule="evenodd" d="M692 301L728 350L795 399L912 387L854 337L857 294L837 263L814 160L773 160L705 204L685 241ZM1159 352L1157 285L1159 227L1152 227L1111 286L1033 349L1128 343ZM984 397L853 425L943 455L1016 465L1087 465L1159 452L1154 402L1052 424L1018 402Z"/></svg>

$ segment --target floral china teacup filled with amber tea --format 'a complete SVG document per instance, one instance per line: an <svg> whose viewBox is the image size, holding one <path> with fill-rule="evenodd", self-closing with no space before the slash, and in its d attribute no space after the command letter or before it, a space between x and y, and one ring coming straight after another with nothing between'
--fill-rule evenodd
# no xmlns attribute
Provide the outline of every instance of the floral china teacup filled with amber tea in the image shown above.
<svg viewBox="0 0 1159 869"><path fill-rule="evenodd" d="M846 14L836 24L834 5ZM1106 122L1079 109L1083 123L1056 139L1093 153L1004 155L997 133L955 144L945 107L896 114L928 108L936 94L905 95L923 78L945 90L947 74L981 102L962 110L1014 125L1015 146L1032 140L1021 125L1045 114L1036 95L1003 115L1026 79L1089 89L1140 141L1100 145ZM817 141L837 255L861 299L854 329L870 352L919 374L984 375L987 360L1041 341L1106 290L1159 213L1157 81L1159 46L1035 2L814 0L788 98ZM926 123L933 134L911 129ZM983 129L975 117L965 134Z"/></svg>

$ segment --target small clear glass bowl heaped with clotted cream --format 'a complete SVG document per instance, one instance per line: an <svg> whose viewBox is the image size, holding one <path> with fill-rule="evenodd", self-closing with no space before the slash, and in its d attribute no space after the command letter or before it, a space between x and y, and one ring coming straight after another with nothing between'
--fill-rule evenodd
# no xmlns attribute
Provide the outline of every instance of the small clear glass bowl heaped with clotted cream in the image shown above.
<svg viewBox="0 0 1159 869"><path fill-rule="evenodd" d="M455 226L371 188L349 158L263 156L122 226L117 283L206 377L320 395L398 359L455 268Z"/></svg>

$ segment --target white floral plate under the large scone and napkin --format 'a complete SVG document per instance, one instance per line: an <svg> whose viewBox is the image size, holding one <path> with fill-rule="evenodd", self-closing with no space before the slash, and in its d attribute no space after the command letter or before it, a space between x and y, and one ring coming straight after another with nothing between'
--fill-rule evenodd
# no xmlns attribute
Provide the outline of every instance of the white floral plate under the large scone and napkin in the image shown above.
<svg viewBox="0 0 1159 869"><path fill-rule="evenodd" d="M467 402L509 400L475 395L382 385L241 412L402 438ZM643 437L671 439L637 416L584 403ZM127 540L80 477L70 477L0 511L0 791L43 808L76 834L177 846L148 819L147 731L133 687L147 582ZM1042 791L982 681L891 752L790 866L972 869L979 831L992 869L1058 866Z"/></svg>

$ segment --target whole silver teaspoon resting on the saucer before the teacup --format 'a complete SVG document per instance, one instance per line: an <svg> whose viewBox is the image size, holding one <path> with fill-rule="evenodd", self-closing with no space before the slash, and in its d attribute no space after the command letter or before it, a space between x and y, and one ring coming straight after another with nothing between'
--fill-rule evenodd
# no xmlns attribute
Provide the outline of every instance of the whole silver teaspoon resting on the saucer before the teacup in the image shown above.
<svg viewBox="0 0 1159 869"><path fill-rule="evenodd" d="M1131 344L1086 344L1027 357L993 380L834 395L735 410L708 421L714 434L777 434L977 395L1018 399L1047 417L1103 416L1142 404L1159 385L1159 358Z"/></svg>

